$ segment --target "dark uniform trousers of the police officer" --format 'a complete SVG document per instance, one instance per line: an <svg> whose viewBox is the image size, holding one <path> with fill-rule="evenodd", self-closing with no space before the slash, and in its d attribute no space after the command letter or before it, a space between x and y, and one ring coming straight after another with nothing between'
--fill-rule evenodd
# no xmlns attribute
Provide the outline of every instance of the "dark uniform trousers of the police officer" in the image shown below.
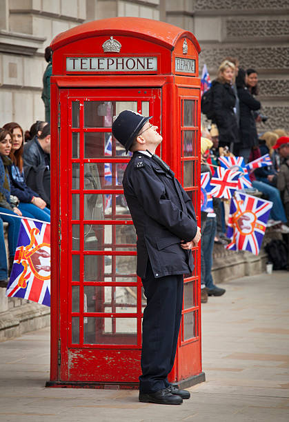
<svg viewBox="0 0 289 422"><path fill-rule="evenodd" d="M169 385L177 350L183 305L183 274L155 279L150 261L142 279L148 304L143 312L143 345L139 391L155 392Z"/></svg>

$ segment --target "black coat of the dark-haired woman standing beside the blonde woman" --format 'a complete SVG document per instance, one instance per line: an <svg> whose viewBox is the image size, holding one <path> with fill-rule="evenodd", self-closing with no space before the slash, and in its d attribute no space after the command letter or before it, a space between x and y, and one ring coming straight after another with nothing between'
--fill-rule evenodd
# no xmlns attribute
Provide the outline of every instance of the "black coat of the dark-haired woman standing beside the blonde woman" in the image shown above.
<svg viewBox="0 0 289 422"><path fill-rule="evenodd" d="M240 148L258 145L258 135L253 110L259 110L261 103L255 99L247 88L238 88L240 107Z"/></svg>

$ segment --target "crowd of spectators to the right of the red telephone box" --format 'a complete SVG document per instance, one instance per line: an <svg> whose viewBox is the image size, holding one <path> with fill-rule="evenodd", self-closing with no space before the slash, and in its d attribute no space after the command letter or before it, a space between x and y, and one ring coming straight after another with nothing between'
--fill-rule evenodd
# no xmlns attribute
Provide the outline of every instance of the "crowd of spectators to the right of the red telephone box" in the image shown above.
<svg viewBox="0 0 289 422"><path fill-rule="evenodd" d="M250 172L252 188L248 194L255 194L272 201L267 227L279 232L289 250L289 132L283 129L262 131L261 122L270 119L261 112L257 71L239 67L234 57L226 57L219 66L217 78L212 81L210 119L202 126L202 136L212 143L203 150L202 169L210 157L210 163L219 165L219 157L243 157L245 164L265 154L270 155L272 165ZM245 189L246 191L246 189ZM202 233L208 232L210 241L201 239L201 248L206 248L206 260L201 259L201 301L208 301L208 294L220 296L225 290L214 285L210 273L212 267L212 245L226 244L226 200L214 201L214 213L202 213ZM215 219L215 223L212 223ZM210 230L206 230L209 223ZM206 245L203 245L206 243ZM210 243L211 247L208 248ZM210 254L210 257L208 257ZM289 255L288 255L289 269ZM213 287L212 287L213 286Z"/></svg>

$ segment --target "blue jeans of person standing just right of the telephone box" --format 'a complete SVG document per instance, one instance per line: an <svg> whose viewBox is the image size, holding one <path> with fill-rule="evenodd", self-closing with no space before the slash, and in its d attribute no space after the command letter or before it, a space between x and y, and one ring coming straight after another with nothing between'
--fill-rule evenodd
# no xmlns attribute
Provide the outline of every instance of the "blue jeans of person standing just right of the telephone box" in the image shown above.
<svg viewBox="0 0 289 422"><path fill-rule="evenodd" d="M201 236L201 258L203 255L203 266L205 268L205 274L202 278L206 284L206 288L208 289L213 289L216 287L212 281L212 250L214 249L216 228L216 217L207 217L206 225Z"/></svg>

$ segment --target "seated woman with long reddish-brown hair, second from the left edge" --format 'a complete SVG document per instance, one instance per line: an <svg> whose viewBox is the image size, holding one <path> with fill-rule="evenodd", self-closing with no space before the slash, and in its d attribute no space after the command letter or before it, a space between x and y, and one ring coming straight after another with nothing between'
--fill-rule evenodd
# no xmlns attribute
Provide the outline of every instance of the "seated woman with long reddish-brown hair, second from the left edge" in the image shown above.
<svg viewBox="0 0 289 422"><path fill-rule="evenodd" d="M28 188L23 174L23 130L18 123L10 122L3 126L12 134L12 148L10 152L10 190L19 199L19 210L24 217L50 222L50 210L46 202L37 193Z"/></svg>

